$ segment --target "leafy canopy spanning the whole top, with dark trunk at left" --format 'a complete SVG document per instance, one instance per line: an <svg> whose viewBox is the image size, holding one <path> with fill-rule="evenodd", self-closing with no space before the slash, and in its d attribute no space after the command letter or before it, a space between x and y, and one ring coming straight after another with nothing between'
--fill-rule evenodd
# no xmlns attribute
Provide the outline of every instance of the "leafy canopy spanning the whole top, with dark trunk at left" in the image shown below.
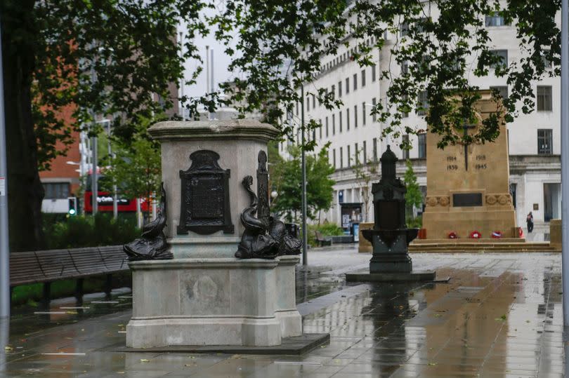
<svg viewBox="0 0 569 378"><path fill-rule="evenodd" d="M198 64L185 81L195 83L197 36L211 32L227 43L235 81L223 90L242 112L260 109L283 135L292 133L296 120L287 114L300 102L301 86L327 109L341 105L315 85L325 59L347 46L352 60L371 66L381 50L390 62L380 74L386 99L373 112L387 123L384 135L420 132L403 126L403 115L428 104L426 121L444 147L494 140L502 114L512 121L532 111L532 83L559 74L560 8L560 0L0 1L11 245L41 247L38 170L65 153L55 144L70 142L72 128L96 132L96 115L113 119L115 137L124 141L143 133L140 118L156 118L178 100L168 86L180 81L189 59ZM485 27L495 15L516 31L521 55L508 65L493 52L495 34ZM183 54L180 22L187 25ZM408 67L403 74L392 69L401 65ZM479 89L469 77L488 74L506 79L509 98L475 135L464 135L459 130L475 117ZM196 115L200 106L212 110L219 95L182 100Z"/></svg>

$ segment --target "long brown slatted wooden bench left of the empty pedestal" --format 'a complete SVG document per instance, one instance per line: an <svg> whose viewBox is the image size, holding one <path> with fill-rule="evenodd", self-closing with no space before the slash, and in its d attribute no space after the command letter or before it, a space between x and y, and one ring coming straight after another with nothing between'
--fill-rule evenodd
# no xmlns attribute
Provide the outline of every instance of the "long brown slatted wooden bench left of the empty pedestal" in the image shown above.
<svg viewBox="0 0 569 378"><path fill-rule="evenodd" d="M106 275L105 294L109 297L112 274L128 270L126 262L122 245L14 252L10 254L10 288L43 283L42 304L48 305L53 281L75 279L75 297L81 303L84 278Z"/></svg>

